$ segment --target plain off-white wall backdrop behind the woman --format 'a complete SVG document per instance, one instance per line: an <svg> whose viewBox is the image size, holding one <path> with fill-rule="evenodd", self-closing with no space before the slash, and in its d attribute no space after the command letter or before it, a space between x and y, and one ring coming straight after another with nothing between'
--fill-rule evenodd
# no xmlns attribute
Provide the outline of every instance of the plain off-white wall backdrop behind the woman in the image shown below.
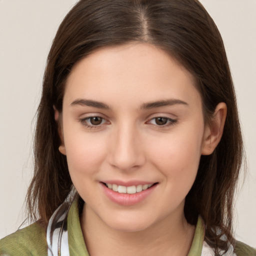
<svg viewBox="0 0 256 256"><path fill-rule="evenodd" d="M0 0L0 238L25 219L33 117L56 29L76 0ZM236 238L256 247L256 0L201 0L222 35L235 88L248 175ZM242 183L242 178L240 179Z"/></svg>

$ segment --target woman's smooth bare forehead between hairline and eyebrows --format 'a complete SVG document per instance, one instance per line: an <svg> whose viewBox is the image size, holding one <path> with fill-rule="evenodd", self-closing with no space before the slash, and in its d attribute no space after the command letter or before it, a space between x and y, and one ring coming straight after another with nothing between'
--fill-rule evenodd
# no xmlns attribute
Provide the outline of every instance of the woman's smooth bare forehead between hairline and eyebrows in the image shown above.
<svg viewBox="0 0 256 256"><path fill-rule="evenodd" d="M78 61L68 76L64 101L77 97L119 104L166 97L200 100L193 75L148 43L100 48Z"/></svg>

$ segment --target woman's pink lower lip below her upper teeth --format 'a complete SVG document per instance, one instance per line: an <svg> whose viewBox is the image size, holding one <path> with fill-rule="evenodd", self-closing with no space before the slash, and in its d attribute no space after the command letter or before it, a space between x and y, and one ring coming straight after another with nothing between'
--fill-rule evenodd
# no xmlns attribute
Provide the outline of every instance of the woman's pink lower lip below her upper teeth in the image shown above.
<svg viewBox="0 0 256 256"><path fill-rule="evenodd" d="M118 193L113 191L112 189L109 189L108 187L105 186L105 184L100 183L104 193L106 196L113 202L120 204L120 205L134 205L136 203L139 203L143 201L156 187L156 184L142 190L140 192L134 193L134 194L128 194L128 193Z"/></svg>

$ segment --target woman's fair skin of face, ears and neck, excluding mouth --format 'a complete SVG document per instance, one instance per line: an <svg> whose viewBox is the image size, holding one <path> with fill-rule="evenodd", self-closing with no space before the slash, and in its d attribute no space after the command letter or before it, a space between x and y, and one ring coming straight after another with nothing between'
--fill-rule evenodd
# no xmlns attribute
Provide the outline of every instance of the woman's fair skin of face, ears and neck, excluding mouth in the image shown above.
<svg viewBox="0 0 256 256"><path fill-rule="evenodd" d="M151 104L156 101L161 104ZM210 154L221 138L225 115L219 103L206 125L194 77L150 44L101 48L74 65L59 150L86 202L80 222L90 255L187 255L194 226L184 217L185 196L200 155ZM91 116L102 121L92 125ZM155 185L127 206L106 196L104 180Z"/></svg>

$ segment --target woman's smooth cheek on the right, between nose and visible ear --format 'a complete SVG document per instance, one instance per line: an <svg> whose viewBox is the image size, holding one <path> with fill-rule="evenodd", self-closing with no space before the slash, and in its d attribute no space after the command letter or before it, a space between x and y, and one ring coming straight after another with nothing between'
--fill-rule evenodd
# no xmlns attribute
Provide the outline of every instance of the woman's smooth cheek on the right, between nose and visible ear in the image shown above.
<svg viewBox="0 0 256 256"><path fill-rule="evenodd" d="M155 165L166 177L184 183L193 182L200 160L202 137L203 124L180 128L165 138L155 139L150 158L154 159Z"/></svg>

